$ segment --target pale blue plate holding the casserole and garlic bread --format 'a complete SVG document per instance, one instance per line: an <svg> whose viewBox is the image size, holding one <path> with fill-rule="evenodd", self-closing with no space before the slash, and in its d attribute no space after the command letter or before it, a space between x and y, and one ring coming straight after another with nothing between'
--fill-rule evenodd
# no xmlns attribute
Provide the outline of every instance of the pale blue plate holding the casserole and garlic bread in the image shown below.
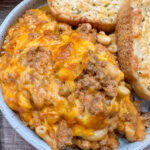
<svg viewBox="0 0 150 150"><path fill-rule="evenodd" d="M30 8L38 8L46 4L46 0L24 0L7 16L3 24L0 26L0 47L7 29L20 17L25 10ZM150 102L143 103L143 109L150 111ZM0 91L0 110L11 124L11 126L32 146L38 150L51 150L50 146L37 136L32 130L26 127L18 116L5 104ZM147 138L143 142L129 143L127 140L120 138L119 150L143 150L150 144L150 131L147 130Z"/></svg>

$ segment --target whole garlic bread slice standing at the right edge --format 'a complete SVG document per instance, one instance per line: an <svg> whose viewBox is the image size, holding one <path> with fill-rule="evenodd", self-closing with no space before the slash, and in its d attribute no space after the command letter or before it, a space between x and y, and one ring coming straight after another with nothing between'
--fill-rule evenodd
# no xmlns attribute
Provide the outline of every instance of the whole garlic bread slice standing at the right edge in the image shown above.
<svg viewBox="0 0 150 150"><path fill-rule="evenodd" d="M117 21L118 60L136 93L150 100L150 1L124 1Z"/></svg>

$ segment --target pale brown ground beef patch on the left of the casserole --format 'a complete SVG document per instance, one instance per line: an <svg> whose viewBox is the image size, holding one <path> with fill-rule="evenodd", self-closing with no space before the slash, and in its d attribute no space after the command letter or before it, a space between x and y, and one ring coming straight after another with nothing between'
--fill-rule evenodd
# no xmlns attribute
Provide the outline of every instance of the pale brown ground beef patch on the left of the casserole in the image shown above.
<svg viewBox="0 0 150 150"><path fill-rule="evenodd" d="M19 62L29 71L22 73L18 79L20 89L27 90L34 105L39 109L44 105L55 105L53 95L49 92L50 86L56 82L55 91L59 89L59 80L52 79L54 70L52 54L49 49L42 46L34 46L27 50L26 53L20 52ZM32 88L31 88L32 87Z"/></svg>

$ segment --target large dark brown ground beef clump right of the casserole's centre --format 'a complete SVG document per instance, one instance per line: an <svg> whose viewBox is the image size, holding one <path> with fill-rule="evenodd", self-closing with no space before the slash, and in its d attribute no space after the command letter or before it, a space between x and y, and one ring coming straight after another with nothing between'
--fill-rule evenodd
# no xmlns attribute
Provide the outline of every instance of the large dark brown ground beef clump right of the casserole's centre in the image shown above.
<svg viewBox="0 0 150 150"><path fill-rule="evenodd" d="M117 83L105 74L103 61L99 62L94 55L93 60L76 79L75 96L83 105L82 111L86 110L92 115L98 115L105 113L104 104L109 105L111 99L117 95Z"/></svg>

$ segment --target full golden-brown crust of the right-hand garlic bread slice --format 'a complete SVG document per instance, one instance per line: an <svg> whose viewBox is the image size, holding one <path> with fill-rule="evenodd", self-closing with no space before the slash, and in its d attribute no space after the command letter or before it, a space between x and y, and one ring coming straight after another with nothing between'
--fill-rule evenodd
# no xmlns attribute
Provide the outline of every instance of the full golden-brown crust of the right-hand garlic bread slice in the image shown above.
<svg viewBox="0 0 150 150"><path fill-rule="evenodd" d="M142 65L140 57L135 54L137 48L134 41L140 35L139 29L142 25L142 11L137 6L137 0L127 0L118 13L116 26L118 61L137 95L150 100L150 91L147 90L146 84L141 82L138 74L138 68Z"/></svg>

